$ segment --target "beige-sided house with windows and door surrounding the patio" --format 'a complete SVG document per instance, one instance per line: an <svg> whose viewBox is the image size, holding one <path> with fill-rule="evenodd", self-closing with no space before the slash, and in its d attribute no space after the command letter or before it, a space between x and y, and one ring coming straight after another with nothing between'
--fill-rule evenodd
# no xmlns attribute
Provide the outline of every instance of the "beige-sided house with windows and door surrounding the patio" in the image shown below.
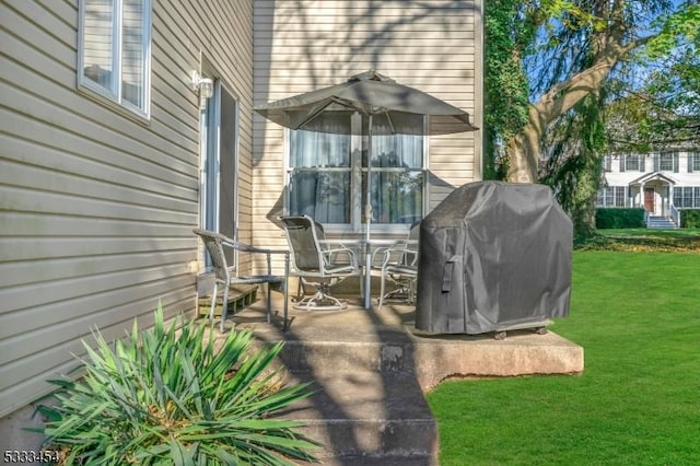
<svg viewBox="0 0 700 466"><path fill-rule="evenodd" d="M21 448L31 405L75 365L94 327L116 338L135 318L149 325L159 301L168 316L194 313L211 276L194 228L284 245L276 217L308 207L290 184L327 166L299 162L311 142L254 105L373 68L481 127L482 10L483 0L1 1L0 445ZM417 180L416 201L378 219L380 234L405 233L481 177L481 131L410 143L406 170L384 178ZM337 171L366 170L353 160ZM353 179L336 186L346 215L320 219L330 233L361 231L347 209L361 193Z"/></svg>

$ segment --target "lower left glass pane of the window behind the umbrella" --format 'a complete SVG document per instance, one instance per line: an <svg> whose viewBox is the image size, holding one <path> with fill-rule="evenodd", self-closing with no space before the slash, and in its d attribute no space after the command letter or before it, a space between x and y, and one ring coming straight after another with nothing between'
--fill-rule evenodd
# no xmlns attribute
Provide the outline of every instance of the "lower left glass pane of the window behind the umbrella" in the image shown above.
<svg viewBox="0 0 700 466"><path fill-rule="evenodd" d="M350 172L292 173L289 187L291 214L307 214L320 223L350 223Z"/></svg>

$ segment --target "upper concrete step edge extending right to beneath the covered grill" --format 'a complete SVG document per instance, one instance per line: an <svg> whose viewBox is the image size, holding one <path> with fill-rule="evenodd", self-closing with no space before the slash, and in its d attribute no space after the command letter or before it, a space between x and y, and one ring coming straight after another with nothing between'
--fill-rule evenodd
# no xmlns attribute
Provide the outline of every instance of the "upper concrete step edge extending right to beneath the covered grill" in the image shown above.
<svg viewBox="0 0 700 466"><path fill-rule="evenodd" d="M279 359L287 371L409 374L425 392L452 375L573 374L583 370L583 349L553 333L513 330L504 340L497 340L489 334L422 337L400 329L377 329L373 334L317 330L301 338L285 335ZM275 337L262 339L273 341Z"/></svg>

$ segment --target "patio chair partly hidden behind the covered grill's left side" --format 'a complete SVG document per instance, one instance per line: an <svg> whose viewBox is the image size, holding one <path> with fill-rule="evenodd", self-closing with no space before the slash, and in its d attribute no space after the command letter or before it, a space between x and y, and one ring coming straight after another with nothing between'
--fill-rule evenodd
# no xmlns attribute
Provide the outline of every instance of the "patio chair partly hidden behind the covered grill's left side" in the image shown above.
<svg viewBox="0 0 700 466"><path fill-rule="evenodd" d="M418 238L420 222L415 222L406 240L380 249L384 255L380 272L380 310L384 301L392 300L413 304L416 302L416 282L418 280ZM387 281L394 288L386 291Z"/></svg>

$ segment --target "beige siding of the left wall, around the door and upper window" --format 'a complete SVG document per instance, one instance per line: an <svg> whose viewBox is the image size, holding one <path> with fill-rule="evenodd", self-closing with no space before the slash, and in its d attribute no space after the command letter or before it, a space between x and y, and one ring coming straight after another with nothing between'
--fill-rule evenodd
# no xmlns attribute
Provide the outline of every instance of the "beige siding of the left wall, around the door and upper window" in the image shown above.
<svg viewBox="0 0 700 466"><path fill-rule="evenodd" d="M191 316L206 62L240 97L249 225L252 1L152 0L150 120L78 90L78 1L0 3L0 417L45 395L100 327ZM247 217L246 217L247 215ZM242 225L250 235L250 228Z"/></svg>

